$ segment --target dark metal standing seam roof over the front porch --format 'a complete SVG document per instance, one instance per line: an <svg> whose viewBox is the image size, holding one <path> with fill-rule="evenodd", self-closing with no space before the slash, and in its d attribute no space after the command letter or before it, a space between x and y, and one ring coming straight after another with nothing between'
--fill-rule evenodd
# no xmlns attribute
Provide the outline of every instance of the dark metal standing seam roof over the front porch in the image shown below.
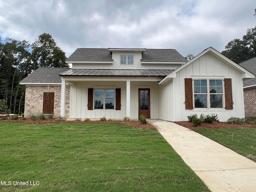
<svg viewBox="0 0 256 192"><path fill-rule="evenodd" d="M167 76L174 70L71 69L60 76Z"/></svg>

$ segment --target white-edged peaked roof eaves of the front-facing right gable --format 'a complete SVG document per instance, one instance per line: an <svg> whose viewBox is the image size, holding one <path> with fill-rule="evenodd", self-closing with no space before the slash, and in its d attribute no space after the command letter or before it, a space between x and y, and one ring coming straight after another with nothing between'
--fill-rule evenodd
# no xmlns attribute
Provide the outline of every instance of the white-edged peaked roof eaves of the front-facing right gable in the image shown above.
<svg viewBox="0 0 256 192"><path fill-rule="evenodd" d="M196 59L200 58L202 55L206 54L207 52L211 52L212 54L214 54L216 57L218 57L218 59L220 59L222 62L225 62L226 64L228 64L229 66L231 66L232 68L235 68L238 72L240 72L241 74L243 74L243 79L244 78L255 78L254 74L252 74L251 72L249 72L248 70L244 69L243 67L241 67L240 65L236 64L235 62L231 61L230 59L226 58L224 55L222 55L220 52L218 52L217 50L215 50L212 47L209 47L207 49L205 49L204 51L202 51L200 54L198 54L197 56L195 56L194 58L192 58L190 61L186 62L186 64L180 66L179 68L177 68L176 70L174 70L172 73L170 73L169 75L167 75L163 80L161 80L158 84L163 84L164 82L166 82L166 80L168 78L175 78L176 77L176 72L182 70L183 68L185 68L186 66L188 66L189 64L191 64L192 62L194 62Z"/></svg>

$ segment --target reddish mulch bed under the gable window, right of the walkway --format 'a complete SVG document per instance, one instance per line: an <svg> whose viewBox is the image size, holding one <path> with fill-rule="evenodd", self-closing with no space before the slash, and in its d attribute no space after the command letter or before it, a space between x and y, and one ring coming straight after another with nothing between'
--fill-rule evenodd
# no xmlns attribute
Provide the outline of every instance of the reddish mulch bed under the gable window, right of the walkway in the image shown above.
<svg viewBox="0 0 256 192"><path fill-rule="evenodd" d="M180 121L175 122L176 124L179 124L181 126L184 126L186 128L189 128L191 130L194 129L216 129L216 128L239 128L239 127L256 127L256 124L254 122L245 122L244 124L228 124L227 122L213 122L212 124L208 123L202 123L202 125L195 127L193 123L188 121Z"/></svg>

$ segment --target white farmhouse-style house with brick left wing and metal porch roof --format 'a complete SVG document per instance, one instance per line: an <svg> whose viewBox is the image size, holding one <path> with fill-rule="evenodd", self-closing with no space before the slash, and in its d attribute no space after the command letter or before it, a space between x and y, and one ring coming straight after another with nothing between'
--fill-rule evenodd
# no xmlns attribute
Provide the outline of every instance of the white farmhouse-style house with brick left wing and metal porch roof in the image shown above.
<svg viewBox="0 0 256 192"><path fill-rule="evenodd" d="M243 79L254 78L211 47L188 62L174 49L79 48L66 62L72 69L39 68L20 82L26 84L25 116L138 119L144 115L186 121L190 114L217 114L226 121L244 117ZM50 73L61 79L39 78ZM38 81L32 84L34 76ZM53 97L54 103L49 102ZM52 106L53 112L44 112Z"/></svg>

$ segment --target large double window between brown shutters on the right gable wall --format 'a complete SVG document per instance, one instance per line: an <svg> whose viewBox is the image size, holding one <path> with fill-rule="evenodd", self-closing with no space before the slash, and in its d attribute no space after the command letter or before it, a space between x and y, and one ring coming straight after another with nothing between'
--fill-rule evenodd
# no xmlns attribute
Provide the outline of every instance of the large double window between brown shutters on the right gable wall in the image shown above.
<svg viewBox="0 0 256 192"><path fill-rule="evenodd" d="M194 107L223 108L223 80L195 79Z"/></svg>

